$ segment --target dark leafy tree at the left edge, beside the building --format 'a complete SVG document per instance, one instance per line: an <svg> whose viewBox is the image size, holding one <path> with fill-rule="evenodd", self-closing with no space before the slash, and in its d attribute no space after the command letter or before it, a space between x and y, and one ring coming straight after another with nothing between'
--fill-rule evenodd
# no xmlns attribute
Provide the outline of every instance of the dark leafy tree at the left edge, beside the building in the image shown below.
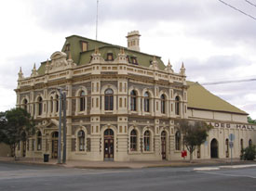
<svg viewBox="0 0 256 191"><path fill-rule="evenodd" d="M16 159L15 149L20 141L26 141L34 133L34 121L27 110L12 108L4 114L1 113L0 142L10 146L14 159Z"/></svg>

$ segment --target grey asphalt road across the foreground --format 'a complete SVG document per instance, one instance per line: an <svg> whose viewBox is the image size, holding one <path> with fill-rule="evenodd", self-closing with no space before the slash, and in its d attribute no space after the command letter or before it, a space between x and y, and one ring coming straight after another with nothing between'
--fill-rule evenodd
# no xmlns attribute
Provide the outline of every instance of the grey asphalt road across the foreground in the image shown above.
<svg viewBox="0 0 256 191"><path fill-rule="evenodd" d="M67 169L0 162L0 191L256 190L256 168L195 172L189 168Z"/></svg>

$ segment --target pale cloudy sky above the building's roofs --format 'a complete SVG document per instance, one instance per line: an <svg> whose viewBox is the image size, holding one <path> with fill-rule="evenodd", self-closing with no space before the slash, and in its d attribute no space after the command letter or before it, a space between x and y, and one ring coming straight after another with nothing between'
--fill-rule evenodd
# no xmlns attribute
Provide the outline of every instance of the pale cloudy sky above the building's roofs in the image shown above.
<svg viewBox="0 0 256 191"><path fill-rule="evenodd" d="M223 0L256 18L256 0ZM252 4L249 4L249 2ZM0 6L0 111L14 108L18 72L30 76L72 34L96 37L97 0L8 0ZM254 5L254 6L253 6ZM256 19L219 0L99 0L98 40L127 46L141 33L141 52L182 62L198 83L256 78ZM256 81L205 85L256 119Z"/></svg>

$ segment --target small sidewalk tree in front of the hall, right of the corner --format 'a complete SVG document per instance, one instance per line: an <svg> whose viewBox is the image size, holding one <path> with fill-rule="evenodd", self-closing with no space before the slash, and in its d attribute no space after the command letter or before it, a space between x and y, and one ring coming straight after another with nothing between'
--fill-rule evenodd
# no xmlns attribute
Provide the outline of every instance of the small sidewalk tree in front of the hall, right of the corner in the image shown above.
<svg viewBox="0 0 256 191"><path fill-rule="evenodd" d="M206 141L209 130L213 127L204 121L180 120L178 128L182 132L183 144L187 147L192 161L196 146L201 146Z"/></svg>

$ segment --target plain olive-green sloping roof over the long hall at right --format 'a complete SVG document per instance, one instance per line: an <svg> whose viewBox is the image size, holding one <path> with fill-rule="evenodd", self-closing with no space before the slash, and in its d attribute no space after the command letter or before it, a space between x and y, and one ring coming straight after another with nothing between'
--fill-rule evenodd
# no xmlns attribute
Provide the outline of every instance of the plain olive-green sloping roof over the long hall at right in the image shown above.
<svg viewBox="0 0 256 191"><path fill-rule="evenodd" d="M219 96L211 94L199 83L187 82L188 88L188 108L199 108L223 112L238 113L248 115L245 111L227 103Z"/></svg>

